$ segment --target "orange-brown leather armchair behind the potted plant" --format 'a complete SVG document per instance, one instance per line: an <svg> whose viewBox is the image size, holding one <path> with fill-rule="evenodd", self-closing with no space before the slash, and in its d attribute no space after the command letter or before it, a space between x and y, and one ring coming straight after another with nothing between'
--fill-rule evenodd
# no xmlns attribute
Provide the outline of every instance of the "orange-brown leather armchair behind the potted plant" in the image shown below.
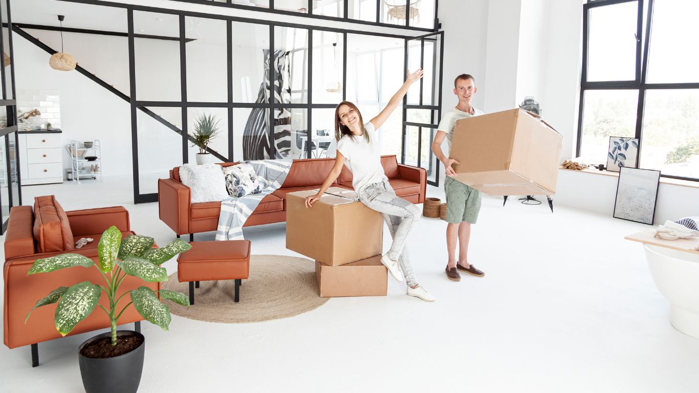
<svg viewBox="0 0 699 393"><path fill-rule="evenodd" d="M37 197L32 206L15 206L10 210L10 219L5 236L5 301L3 308L4 342L8 348L31 345L32 363L38 366L38 343L62 337L54 324L56 305L37 308L24 323L27 313L39 299L57 287L70 287L89 280L104 285L104 279L94 267L80 266L38 273L27 276L27 271L39 258L75 253L99 261L97 244L102 232L115 225L122 237L134 234L129 225L129 211L122 206L64 211L54 196ZM82 248L75 249L75 241L93 238ZM127 276L119 288L120 295L142 285L159 290L160 283L146 283L140 278ZM125 296L126 297L126 296ZM108 307L106 296L100 303ZM120 301L126 305L128 301ZM136 308L129 307L119 319L119 324L138 322L143 317ZM69 335L85 333L110 327L107 315L95 308L85 320L75 325ZM140 329L137 327L136 329Z"/></svg>

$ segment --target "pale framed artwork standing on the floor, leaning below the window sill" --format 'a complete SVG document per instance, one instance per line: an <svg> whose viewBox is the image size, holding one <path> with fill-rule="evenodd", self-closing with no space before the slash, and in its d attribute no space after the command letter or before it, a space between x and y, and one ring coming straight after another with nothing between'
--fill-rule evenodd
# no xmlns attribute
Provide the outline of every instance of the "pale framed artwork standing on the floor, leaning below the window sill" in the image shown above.
<svg viewBox="0 0 699 393"><path fill-rule="evenodd" d="M621 166L614 217L652 225L659 184L660 171Z"/></svg>

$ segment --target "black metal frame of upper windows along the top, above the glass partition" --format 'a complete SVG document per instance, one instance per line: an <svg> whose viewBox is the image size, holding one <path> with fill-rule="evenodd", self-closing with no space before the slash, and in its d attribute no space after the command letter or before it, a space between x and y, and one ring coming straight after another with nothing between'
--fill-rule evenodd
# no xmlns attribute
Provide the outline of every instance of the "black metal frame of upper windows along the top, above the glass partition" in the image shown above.
<svg viewBox="0 0 699 393"><path fill-rule="evenodd" d="M294 11L282 10L282 9L275 8L275 0L269 0L269 8L245 6L243 4L233 3L233 0L226 0L226 2L212 1L212 0L171 0L171 1L180 1L182 3L203 4L206 6L237 8L240 10L251 10L251 11L256 11L256 12L273 13L273 14L278 14L278 15L309 17L312 19L319 19L319 20L334 20L334 21L338 21L338 22L351 22L351 23L358 23L358 24L368 24L371 26L393 27L396 29L410 29L410 30L417 30L417 31L438 31L438 29L439 29L439 21L438 21L438 17L437 17L439 0L435 0L433 25L432 25L433 27L431 27L431 28L411 26L410 25L410 17L405 18L405 24L390 24L390 23L381 22L380 10L381 10L382 0L374 0L376 2L376 17L375 17L375 20L373 22L370 22L367 20L353 19L353 18L349 17L348 16L348 14L349 14L349 12L348 12L349 0L341 0L341 1L343 1L343 16L342 17L333 17L333 16L314 14L313 13L313 1L314 0L308 0L308 13L298 13L298 12L294 12ZM359 0L357 0L357 1L359 1ZM405 15L410 15L410 0L405 0Z"/></svg>

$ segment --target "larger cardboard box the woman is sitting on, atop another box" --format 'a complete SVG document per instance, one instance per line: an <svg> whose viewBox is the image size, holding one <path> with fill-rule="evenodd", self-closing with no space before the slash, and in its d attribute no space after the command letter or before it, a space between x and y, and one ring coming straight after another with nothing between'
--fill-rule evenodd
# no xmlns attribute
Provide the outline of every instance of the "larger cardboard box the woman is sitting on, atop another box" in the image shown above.
<svg viewBox="0 0 699 393"><path fill-rule="evenodd" d="M354 199L338 196L356 195L340 187L329 188L312 208L307 208L305 198L317 192L287 194L289 250L330 266L382 253L384 221L381 213Z"/></svg>

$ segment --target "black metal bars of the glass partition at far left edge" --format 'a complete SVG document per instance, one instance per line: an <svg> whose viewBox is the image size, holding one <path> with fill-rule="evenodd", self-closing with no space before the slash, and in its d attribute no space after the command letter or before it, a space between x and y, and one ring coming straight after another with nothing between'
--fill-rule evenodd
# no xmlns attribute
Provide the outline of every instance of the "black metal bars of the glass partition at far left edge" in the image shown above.
<svg viewBox="0 0 699 393"><path fill-rule="evenodd" d="M8 185L8 206L13 208L13 206L22 205L22 183L20 178L20 155L19 155L19 144L17 143L17 92L15 88L15 57L13 51L12 43L12 29L9 26L12 23L12 15L10 12L10 0L0 0L0 10L7 8L7 23L0 27L0 52L7 53L10 58L10 66L3 66L0 70L0 81L2 88L2 99L0 100L0 106L6 108L6 127L0 129L0 137L2 141L0 143L5 144L5 157L0 157L0 159L5 160L6 171L6 181ZM1 11L0 11L1 13ZM6 30L5 30L6 29ZM4 34L7 31L8 34L8 48L5 48L5 37ZM8 72L9 70L9 72ZM6 85L8 81L12 84L11 92L12 97L8 97L8 91ZM10 163L10 138L15 138L14 151L15 151L15 178L17 180L17 201L14 199L13 189L12 189L12 164ZM0 206L2 206L2 196L0 195ZM0 222L2 222L0 227L0 234L4 234L7 230L9 215L4 217L0 211Z"/></svg>

